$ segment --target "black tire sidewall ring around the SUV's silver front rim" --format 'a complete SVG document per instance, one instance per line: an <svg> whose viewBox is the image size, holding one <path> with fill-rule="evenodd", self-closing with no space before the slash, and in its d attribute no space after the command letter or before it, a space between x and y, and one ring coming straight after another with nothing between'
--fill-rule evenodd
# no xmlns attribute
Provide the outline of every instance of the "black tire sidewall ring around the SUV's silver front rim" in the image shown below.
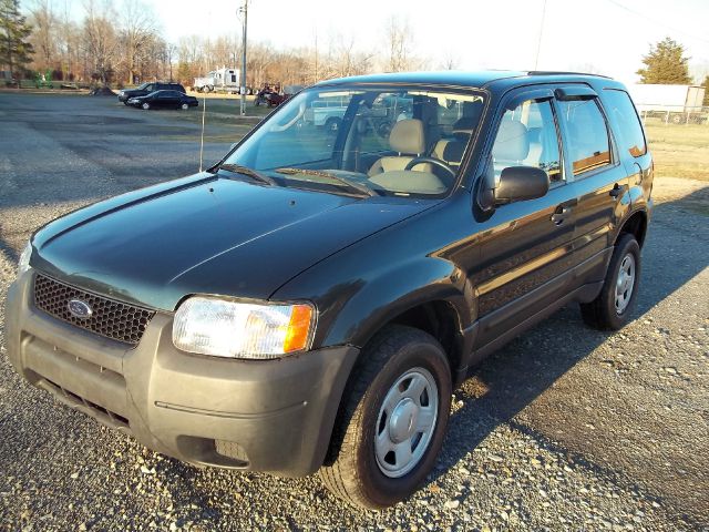
<svg viewBox="0 0 709 532"><path fill-rule="evenodd" d="M439 411L429 447L418 466L400 478L381 472L374 454L374 436L381 403L393 383L408 370L420 367L429 370L439 389ZM448 359L433 342L411 342L391 357L370 385L362 402L357 449L357 468L366 497L377 507L384 508L405 499L423 482L433 469L442 447L451 408L451 372Z"/></svg>

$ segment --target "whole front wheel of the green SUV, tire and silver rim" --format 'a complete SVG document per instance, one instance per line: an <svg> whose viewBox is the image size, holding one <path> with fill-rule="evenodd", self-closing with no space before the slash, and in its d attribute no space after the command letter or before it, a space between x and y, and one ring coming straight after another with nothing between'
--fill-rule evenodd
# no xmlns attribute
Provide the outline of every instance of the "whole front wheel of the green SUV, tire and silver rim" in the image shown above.
<svg viewBox="0 0 709 532"><path fill-rule="evenodd" d="M323 484L356 505L382 509L410 497L432 470L451 408L441 345L411 327L379 332L348 383Z"/></svg>

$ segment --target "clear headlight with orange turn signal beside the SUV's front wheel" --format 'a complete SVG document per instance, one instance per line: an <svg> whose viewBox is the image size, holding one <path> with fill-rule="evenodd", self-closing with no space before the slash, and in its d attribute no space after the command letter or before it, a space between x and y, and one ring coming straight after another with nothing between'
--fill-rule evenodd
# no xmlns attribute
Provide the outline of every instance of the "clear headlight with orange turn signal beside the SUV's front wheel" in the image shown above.
<svg viewBox="0 0 709 532"><path fill-rule="evenodd" d="M278 358L309 347L314 317L310 305L196 296L175 314L173 344L185 351L216 357Z"/></svg>

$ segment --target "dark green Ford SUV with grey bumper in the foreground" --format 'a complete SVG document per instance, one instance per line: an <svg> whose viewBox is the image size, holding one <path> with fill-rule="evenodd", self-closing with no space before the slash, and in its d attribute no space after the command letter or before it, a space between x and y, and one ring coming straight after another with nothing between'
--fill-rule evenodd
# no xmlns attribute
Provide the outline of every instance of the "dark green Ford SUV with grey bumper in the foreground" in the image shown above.
<svg viewBox="0 0 709 532"><path fill-rule="evenodd" d="M304 121L329 93L347 104L335 136ZM392 99L411 109L382 139L371 110ZM573 301L599 329L633 318L651 188L607 78L323 82L208 171L39 229L8 296L9 358L156 451L319 470L384 508L432 470L452 391L485 356Z"/></svg>

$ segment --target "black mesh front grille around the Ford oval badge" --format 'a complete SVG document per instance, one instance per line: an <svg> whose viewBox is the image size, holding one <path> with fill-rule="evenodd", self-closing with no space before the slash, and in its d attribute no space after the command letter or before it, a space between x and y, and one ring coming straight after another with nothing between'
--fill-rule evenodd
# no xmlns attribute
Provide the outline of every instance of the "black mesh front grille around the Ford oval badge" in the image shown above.
<svg viewBox="0 0 709 532"><path fill-rule="evenodd" d="M71 314L69 301L72 299L89 305L91 316L79 318ZM34 305L63 321L131 346L141 341L155 315L152 310L80 290L40 274L34 278Z"/></svg>

